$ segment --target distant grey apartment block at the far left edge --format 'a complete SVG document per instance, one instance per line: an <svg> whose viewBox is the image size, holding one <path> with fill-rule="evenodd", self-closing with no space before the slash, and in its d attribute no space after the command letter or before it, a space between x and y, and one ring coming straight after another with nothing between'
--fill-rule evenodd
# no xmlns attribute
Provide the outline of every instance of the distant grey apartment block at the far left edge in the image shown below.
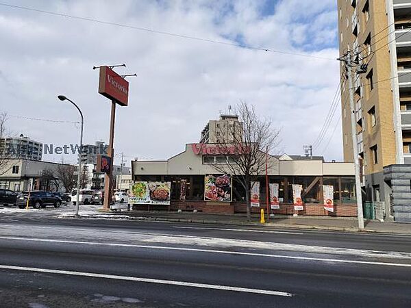
<svg viewBox="0 0 411 308"><path fill-rule="evenodd" d="M10 159L42 159L43 144L21 134L0 138L0 153Z"/></svg>

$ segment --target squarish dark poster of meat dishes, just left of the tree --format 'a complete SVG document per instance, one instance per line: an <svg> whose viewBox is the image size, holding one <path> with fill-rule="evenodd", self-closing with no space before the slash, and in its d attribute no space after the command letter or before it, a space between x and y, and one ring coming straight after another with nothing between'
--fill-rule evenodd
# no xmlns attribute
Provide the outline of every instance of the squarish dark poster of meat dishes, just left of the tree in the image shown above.
<svg viewBox="0 0 411 308"><path fill-rule="evenodd" d="M204 177L205 201L232 201L232 177L230 175L206 175Z"/></svg>

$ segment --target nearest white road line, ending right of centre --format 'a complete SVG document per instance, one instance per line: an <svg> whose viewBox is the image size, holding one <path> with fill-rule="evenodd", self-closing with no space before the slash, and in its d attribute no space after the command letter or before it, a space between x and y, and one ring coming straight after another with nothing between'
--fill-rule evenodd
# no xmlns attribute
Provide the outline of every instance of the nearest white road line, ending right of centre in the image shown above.
<svg viewBox="0 0 411 308"><path fill-rule="evenodd" d="M208 283L192 283L192 282L186 282L186 281L150 279L150 278L119 276L119 275L111 275L111 274L98 274L94 272L76 272L73 270L51 270L49 268L27 268L25 266L7 266L7 265L0 265L0 268L4 270L23 270L25 272L46 272L49 274L62 274L62 275L70 275L70 276L116 279L116 280L125 280L125 281L138 281L142 283L158 283L162 285L179 285L181 287L201 287L203 289L245 292L245 293L255 293L255 294L264 294L264 295L276 295L276 296L288 296L288 297L292 296L292 294L288 292L281 292L281 291L250 289L248 287L232 287L229 285L210 285Z"/></svg>

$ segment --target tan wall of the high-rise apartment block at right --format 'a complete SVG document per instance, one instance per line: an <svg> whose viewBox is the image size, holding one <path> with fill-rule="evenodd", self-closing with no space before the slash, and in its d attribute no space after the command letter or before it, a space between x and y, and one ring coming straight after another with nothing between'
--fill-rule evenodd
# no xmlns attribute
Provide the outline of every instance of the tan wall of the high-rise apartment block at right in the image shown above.
<svg viewBox="0 0 411 308"><path fill-rule="evenodd" d="M356 8L351 3L356 2ZM369 14L364 8L369 5ZM353 16L356 16L353 18ZM357 19L358 35L353 34L353 21ZM388 19L386 1L338 0L338 29L340 32L340 55L347 49L359 51L369 62L366 73L360 74L360 94L355 95L356 109L362 114L358 120L358 140L361 140L360 155L364 158L364 175L382 172L384 166L395 164L395 130L393 123L393 93L391 92L390 53L388 49ZM378 34L375 36L375 34ZM371 37L371 53L368 52L367 38ZM377 52L373 52L377 51ZM343 62L341 72L343 72ZM353 68L354 70L356 68ZM373 75L373 86L370 79ZM353 73L353 79L356 74ZM382 81L384 80L384 81ZM355 84L355 83L354 83ZM345 162L353 162L351 138L351 112L349 109L348 81L342 79L341 87L343 112L343 142ZM354 86L356 90L356 86ZM372 110L375 110L375 125L371 124ZM377 164L371 148L377 146Z"/></svg>

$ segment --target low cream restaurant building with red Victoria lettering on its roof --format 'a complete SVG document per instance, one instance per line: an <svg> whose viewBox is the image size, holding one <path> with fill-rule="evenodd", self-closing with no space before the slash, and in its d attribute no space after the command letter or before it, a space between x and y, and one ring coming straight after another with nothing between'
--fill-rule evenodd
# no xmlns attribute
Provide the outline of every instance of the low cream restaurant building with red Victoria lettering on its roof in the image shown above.
<svg viewBox="0 0 411 308"><path fill-rule="evenodd" d="M236 121L236 119L231 119ZM230 120L230 121L231 121ZM216 122L216 123L215 123ZM210 126L219 125L218 120L208 123ZM232 123L227 122L227 125ZM211 131L211 129L210 129ZM169 159L157 161L132 161L132 180L143 182L169 182L169 205L134 204L134 209L202 211L205 213L234 214L245 213L245 189L231 178L229 191L224 201L210 200L207 190L210 176L221 176L216 170L216 164L230 164L232 155L221 151L222 147L229 146L218 143L204 142L212 139L210 131L201 133L201 143L186 144L182 153ZM207 138L204 138L207 136ZM206 140L205 140L206 139ZM218 140L218 138L216 138ZM279 206L270 209L273 214L299 214L315 216L357 216L356 188L354 165L352 163L324 162L323 157L306 157L295 155L268 155L269 168L267 170L269 183L277 184ZM256 177L260 188L259 206L252 207L254 213L261 208L266 209L266 175ZM182 183L184 185L182 185ZM214 184L213 184L214 185ZM301 186L299 186L301 185ZM303 209L295 209L293 189L301 187ZM325 209L324 188L332 187L331 197L334 201L332 211ZM270 207L271 208L271 207Z"/></svg>

